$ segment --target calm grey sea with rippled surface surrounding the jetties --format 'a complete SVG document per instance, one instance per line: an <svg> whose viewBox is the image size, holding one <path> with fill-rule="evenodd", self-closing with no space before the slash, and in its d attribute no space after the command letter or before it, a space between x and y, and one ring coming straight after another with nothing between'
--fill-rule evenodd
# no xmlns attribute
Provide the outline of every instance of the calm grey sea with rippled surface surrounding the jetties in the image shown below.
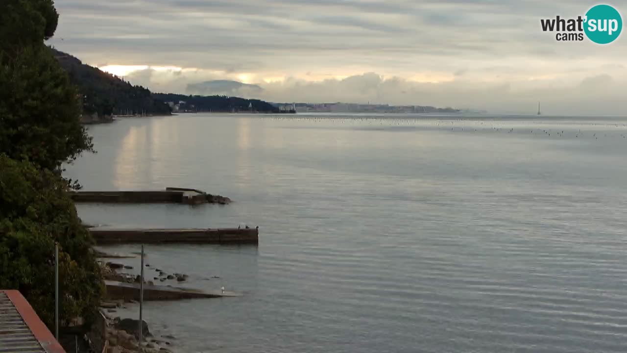
<svg viewBox="0 0 627 353"><path fill-rule="evenodd" d="M189 274L187 286L241 293L148 303L151 330L179 352L625 352L626 124L124 119L91 127L98 153L66 175L85 190L234 200L80 205L88 223L260 227L258 247L147 246L147 262Z"/></svg>

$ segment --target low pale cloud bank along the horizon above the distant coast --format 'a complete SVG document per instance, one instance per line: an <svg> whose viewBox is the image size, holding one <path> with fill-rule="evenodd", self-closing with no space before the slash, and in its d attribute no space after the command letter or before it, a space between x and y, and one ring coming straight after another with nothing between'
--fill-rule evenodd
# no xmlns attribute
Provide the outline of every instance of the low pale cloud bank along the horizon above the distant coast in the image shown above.
<svg viewBox="0 0 627 353"><path fill-rule="evenodd" d="M227 73L204 70L142 70L129 75L134 84L160 87L160 92L188 94L227 94L259 98L272 102L356 102L372 104L430 105L468 109L487 109L493 113L534 114L542 101L545 114L618 114L627 110L622 88L627 82L623 72L589 75L582 79L549 75L527 79L521 75L512 80L489 79L512 68L487 67L468 70L443 82L417 82L404 77L367 72L344 78L308 80L283 77L274 81L257 81L255 85L209 80L186 84L199 77L221 77ZM316 75L315 73L310 73ZM236 76L231 75L232 79ZM482 79L486 77L488 79ZM224 83L224 84L223 84ZM164 87L173 87L164 89ZM204 90L203 90L204 89ZM577 104L574 104L577 102Z"/></svg>

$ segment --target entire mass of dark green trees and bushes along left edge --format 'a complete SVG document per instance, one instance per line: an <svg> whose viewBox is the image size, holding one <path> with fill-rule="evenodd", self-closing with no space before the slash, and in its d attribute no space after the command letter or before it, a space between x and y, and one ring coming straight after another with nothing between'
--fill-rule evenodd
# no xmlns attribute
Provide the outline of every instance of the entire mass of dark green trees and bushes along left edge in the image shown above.
<svg viewBox="0 0 627 353"><path fill-rule="evenodd" d="M52 171L92 149L75 87L43 43L57 20L51 0L0 0L0 288L21 291L48 327L55 243L61 323L89 320L103 291L68 181Z"/></svg>

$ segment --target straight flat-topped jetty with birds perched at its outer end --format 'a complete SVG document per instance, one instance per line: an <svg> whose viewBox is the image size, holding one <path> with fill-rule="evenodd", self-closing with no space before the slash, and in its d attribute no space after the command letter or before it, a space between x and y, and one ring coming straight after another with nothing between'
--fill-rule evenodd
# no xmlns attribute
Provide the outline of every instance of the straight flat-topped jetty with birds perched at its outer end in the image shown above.
<svg viewBox="0 0 627 353"><path fill-rule="evenodd" d="M103 244L259 244L256 228L89 229Z"/></svg>

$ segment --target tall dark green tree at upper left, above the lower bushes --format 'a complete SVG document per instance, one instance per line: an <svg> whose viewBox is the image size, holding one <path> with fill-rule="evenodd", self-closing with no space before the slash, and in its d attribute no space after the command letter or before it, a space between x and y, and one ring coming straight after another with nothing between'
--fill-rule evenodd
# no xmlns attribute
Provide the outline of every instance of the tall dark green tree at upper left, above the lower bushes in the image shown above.
<svg viewBox="0 0 627 353"><path fill-rule="evenodd" d="M57 18L51 0L0 4L0 151L46 169L93 151L78 93L43 43Z"/></svg>

